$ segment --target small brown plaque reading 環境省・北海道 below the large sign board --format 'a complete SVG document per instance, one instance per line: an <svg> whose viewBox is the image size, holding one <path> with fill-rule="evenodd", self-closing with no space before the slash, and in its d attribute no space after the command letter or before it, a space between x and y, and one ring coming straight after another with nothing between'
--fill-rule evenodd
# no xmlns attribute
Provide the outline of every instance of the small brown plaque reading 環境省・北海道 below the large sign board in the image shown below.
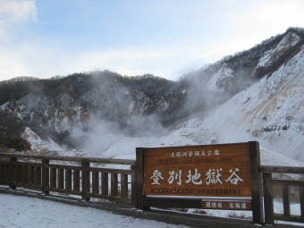
<svg viewBox="0 0 304 228"><path fill-rule="evenodd" d="M201 208L211 210L251 210L251 201L201 200Z"/></svg>

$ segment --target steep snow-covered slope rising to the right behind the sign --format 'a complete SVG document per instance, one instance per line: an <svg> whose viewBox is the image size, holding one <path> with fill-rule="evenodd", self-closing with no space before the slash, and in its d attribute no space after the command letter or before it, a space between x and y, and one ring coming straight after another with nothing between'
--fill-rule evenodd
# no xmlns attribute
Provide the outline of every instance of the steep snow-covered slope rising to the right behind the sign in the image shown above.
<svg viewBox="0 0 304 228"><path fill-rule="evenodd" d="M291 60L209 111L196 114L173 134L198 143L259 140L304 161L304 46ZM208 133L209 132L209 133Z"/></svg>

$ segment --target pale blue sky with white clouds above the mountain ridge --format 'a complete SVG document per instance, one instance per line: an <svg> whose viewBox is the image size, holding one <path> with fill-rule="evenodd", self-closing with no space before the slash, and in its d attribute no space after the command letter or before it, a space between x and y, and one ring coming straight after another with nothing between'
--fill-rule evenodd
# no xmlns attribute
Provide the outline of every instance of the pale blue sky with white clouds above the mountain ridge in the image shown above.
<svg viewBox="0 0 304 228"><path fill-rule="evenodd" d="M0 0L0 80L182 74L304 27L302 0Z"/></svg>

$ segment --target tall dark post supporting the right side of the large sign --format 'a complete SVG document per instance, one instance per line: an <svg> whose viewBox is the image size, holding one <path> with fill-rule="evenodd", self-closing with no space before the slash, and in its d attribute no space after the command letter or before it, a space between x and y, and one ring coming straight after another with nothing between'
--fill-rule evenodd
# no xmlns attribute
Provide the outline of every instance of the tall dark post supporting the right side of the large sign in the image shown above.
<svg viewBox="0 0 304 228"><path fill-rule="evenodd" d="M249 141L251 172L251 205L254 224L263 224L262 178L259 173L260 155L258 141Z"/></svg>

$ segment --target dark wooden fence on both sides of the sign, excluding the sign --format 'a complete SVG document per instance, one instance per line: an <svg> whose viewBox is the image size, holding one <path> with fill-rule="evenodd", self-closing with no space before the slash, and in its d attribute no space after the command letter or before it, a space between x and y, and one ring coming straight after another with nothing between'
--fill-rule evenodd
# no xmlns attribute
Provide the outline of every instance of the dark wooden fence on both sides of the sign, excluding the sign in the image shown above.
<svg viewBox="0 0 304 228"><path fill-rule="evenodd" d="M259 166L259 172L263 177L265 224L274 224L274 220L304 223L304 180L286 179L290 174L303 177L304 168ZM136 175L134 160L0 153L0 185L40 190L45 195L57 192L76 195L82 200L100 198L137 207L142 191L137 190ZM277 196L278 188L282 188L282 196ZM291 203L295 200L291 200L291 191L298 195L300 215L291 213ZM274 211L275 197L283 198L283 214Z"/></svg>

